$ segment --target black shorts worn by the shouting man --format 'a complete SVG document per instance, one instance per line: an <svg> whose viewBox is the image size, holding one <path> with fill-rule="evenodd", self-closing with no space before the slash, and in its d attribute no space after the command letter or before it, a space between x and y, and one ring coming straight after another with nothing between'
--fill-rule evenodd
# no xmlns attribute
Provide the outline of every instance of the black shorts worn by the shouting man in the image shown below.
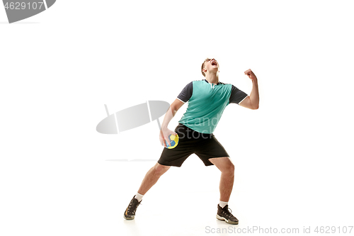
<svg viewBox="0 0 354 236"><path fill-rule="evenodd" d="M173 149L164 147L159 159L159 164L165 166L181 167L190 154L195 153L204 162L205 166L211 166L210 158L229 157L226 150L211 134L199 133L179 123L175 129L178 134L178 145Z"/></svg>

